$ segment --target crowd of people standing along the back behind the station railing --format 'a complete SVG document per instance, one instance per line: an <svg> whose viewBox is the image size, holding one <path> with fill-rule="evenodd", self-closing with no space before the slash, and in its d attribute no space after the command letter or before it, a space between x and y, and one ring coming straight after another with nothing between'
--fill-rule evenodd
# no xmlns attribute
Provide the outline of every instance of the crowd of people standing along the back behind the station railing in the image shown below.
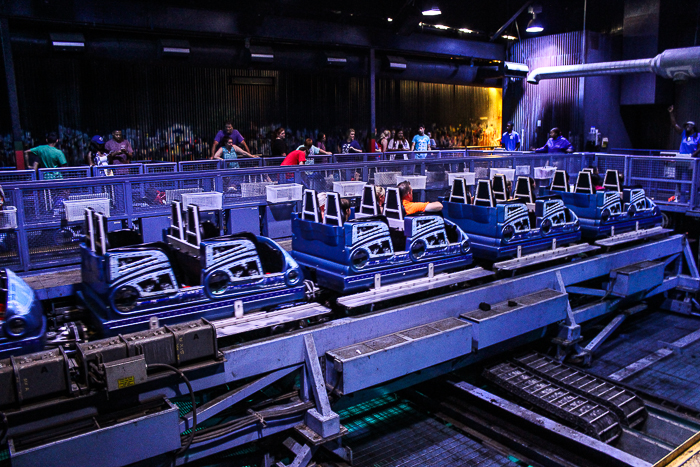
<svg viewBox="0 0 700 467"><path fill-rule="evenodd" d="M689 121L679 125L676 121L673 106L668 109L671 125L674 131L681 135L680 154L693 157L700 155L700 134L695 122ZM289 132L291 133L291 132ZM413 136L411 136L413 135ZM409 139L411 138L411 139ZM200 158L219 159L226 161L227 168L239 168L238 159L275 157L281 165L300 165L313 162L313 156L353 153L388 153L389 159L395 159L402 152L413 152L415 158L425 158L429 150L501 146L507 151L519 151L520 135L514 130L513 122L508 122L506 131L498 138L493 123L472 120L469 125L457 128L439 128L433 125L430 129L418 125L413 132L410 128L381 129L376 139L368 138L366 132L358 133L349 128L344 133L327 135L319 131L296 132L288 134L284 127L278 127L271 132L269 145L261 153L257 144L248 146L243 135L234 128L233 122L224 122L223 128L214 136L210 149ZM361 141L364 141L363 145ZM68 159L59 149L59 137L49 133L46 144L36 146L24 152L27 168L57 168L68 165ZM290 144L291 143L291 144ZM370 146L372 145L372 146ZM267 147L269 146L269 148ZM268 150L269 149L269 150ZM544 146L530 148L538 153L573 152L573 145L562 136L559 128L554 127L549 132L549 139ZM92 137L85 154L84 163L89 166L128 164L134 159L134 147L124 137L121 130L114 130L111 138L105 140L101 135ZM407 158L403 155L404 158Z"/></svg>

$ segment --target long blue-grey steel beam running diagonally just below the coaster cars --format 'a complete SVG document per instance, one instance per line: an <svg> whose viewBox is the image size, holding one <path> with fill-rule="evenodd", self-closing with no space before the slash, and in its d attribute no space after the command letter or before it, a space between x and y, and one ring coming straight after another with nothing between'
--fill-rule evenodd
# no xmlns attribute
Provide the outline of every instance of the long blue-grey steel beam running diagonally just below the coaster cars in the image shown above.
<svg viewBox="0 0 700 467"><path fill-rule="evenodd" d="M639 245L622 251L607 253L576 263L529 274L512 279L493 282L486 287L478 287L463 292L416 303L401 308L370 315L342 318L322 327L303 332L282 335L274 340L253 342L227 349L224 369L220 374L204 376L192 381L195 391L218 386L233 380L244 379L304 362L303 337L314 336L316 349L323 354L333 349L375 339L383 335L421 326L445 318L456 318L464 310L478 308L481 302L498 303L542 290L543 287L557 288L557 274L564 286L576 284L607 275L611 270L647 259L650 261L666 258L683 251L684 237L674 235L657 242ZM675 282L677 284L677 282ZM144 400L149 395L164 393L168 397L186 392L183 385L175 389L142 394Z"/></svg>

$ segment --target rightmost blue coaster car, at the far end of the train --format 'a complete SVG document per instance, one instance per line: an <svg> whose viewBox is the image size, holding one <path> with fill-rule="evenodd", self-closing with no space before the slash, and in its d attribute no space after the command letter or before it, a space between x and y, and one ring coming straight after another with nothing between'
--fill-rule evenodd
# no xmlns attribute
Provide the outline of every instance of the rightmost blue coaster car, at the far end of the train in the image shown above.
<svg viewBox="0 0 700 467"><path fill-rule="evenodd" d="M596 190L590 171L578 174L569 192L565 171L557 170L548 194L558 194L581 221L583 238L595 240L618 233L661 225L661 210L641 187L621 187L616 170L605 173L603 190Z"/></svg>

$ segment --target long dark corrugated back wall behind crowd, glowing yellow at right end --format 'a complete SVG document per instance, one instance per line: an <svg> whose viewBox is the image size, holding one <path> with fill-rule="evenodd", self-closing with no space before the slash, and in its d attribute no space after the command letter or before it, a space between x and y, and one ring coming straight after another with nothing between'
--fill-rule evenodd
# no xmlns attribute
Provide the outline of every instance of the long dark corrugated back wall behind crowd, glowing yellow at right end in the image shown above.
<svg viewBox="0 0 700 467"><path fill-rule="evenodd" d="M114 129L125 132L138 159L172 161L206 157L226 119L258 153L269 153L268 135L279 125L296 141L350 126L361 136L369 126L364 77L20 55L15 67L22 128L32 137L25 143L43 143L46 132L58 129L71 164L82 161L93 135ZM380 128L457 126L484 116L500 127L500 103L495 88L377 81Z"/></svg>

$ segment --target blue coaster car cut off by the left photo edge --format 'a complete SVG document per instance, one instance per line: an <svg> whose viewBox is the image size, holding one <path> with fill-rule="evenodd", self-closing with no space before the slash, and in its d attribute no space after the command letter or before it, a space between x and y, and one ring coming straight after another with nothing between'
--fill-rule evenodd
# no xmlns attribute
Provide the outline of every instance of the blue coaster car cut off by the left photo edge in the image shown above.
<svg viewBox="0 0 700 467"><path fill-rule="evenodd" d="M0 358L43 350L46 317L34 290L9 269L0 270Z"/></svg>

